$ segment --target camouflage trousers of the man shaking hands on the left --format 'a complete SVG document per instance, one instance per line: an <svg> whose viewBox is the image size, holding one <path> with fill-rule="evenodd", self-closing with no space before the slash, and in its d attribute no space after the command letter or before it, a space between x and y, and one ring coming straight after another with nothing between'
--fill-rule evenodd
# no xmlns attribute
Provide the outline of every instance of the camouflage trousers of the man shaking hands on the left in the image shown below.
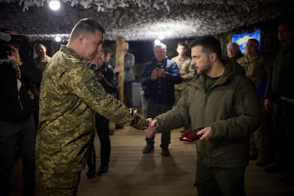
<svg viewBox="0 0 294 196"><path fill-rule="evenodd" d="M80 172L77 173L41 173L45 192L50 196L75 196L80 183Z"/></svg>

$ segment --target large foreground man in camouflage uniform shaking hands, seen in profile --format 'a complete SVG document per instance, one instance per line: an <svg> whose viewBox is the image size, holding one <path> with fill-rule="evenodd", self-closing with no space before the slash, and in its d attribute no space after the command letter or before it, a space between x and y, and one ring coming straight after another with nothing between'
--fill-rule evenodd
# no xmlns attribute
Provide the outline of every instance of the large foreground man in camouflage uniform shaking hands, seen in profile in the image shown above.
<svg viewBox="0 0 294 196"><path fill-rule="evenodd" d="M83 18L43 71L36 165L48 195L77 194L94 139L95 111L116 124L147 128L148 121L107 94L87 66L102 51L103 41L104 28Z"/></svg>

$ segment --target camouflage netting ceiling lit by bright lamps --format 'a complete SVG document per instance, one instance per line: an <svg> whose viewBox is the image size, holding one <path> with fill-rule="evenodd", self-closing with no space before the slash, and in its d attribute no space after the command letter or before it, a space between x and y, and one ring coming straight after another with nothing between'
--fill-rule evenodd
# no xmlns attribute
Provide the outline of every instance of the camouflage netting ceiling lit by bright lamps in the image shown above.
<svg viewBox="0 0 294 196"><path fill-rule="evenodd" d="M48 1L0 0L0 27L49 40L67 38L80 18L90 17L104 26L107 40L191 38L288 16L294 9L291 0L60 0L60 10L52 11Z"/></svg>

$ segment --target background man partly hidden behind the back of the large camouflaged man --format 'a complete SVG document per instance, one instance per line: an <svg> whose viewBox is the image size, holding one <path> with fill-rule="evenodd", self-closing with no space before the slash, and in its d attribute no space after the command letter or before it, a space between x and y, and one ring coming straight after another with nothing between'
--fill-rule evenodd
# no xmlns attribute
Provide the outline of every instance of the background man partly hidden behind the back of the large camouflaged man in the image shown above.
<svg viewBox="0 0 294 196"><path fill-rule="evenodd" d="M33 59L33 65L40 72L40 74L42 74L45 66L51 60L51 58L50 56L47 55L47 48L42 43L37 43L35 45L35 50L38 57ZM33 95L34 95L33 114L34 114L36 126L38 127L40 84L33 84L33 82L31 83L32 83L31 91L33 92Z"/></svg>

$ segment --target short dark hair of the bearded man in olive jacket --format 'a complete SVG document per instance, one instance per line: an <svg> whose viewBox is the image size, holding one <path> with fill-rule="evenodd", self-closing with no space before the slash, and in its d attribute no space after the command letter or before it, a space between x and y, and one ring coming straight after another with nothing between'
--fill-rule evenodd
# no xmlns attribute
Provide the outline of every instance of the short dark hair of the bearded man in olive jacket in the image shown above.
<svg viewBox="0 0 294 196"><path fill-rule="evenodd" d="M189 48L193 48L197 45L202 46L203 53L217 53L217 58L222 59L222 48L219 40L213 36L202 36L192 40L189 44Z"/></svg>

